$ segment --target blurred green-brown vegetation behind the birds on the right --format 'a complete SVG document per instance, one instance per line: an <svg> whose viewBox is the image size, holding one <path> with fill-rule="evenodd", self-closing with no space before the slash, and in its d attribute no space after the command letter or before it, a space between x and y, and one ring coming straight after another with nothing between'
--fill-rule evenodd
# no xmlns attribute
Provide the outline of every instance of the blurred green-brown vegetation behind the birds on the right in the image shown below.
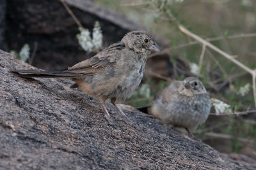
<svg viewBox="0 0 256 170"><path fill-rule="evenodd" d="M95 2L124 14L132 21L143 24L154 34L168 39L171 55L178 56L188 63L198 65L202 45L180 32L177 24L172 22L172 18L166 17L166 13L172 13L173 17L189 31L201 38L210 38L209 41L213 45L244 65L256 69L256 1L95 0ZM170 61L175 62L172 58ZM188 74L172 76L170 81L182 80L185 76ZM206 48L199 77L210 96L230 104L233 111L255 108L252 76L219 53ZM133 106L149 104L154 94L170 81L147 78L125 103ZM240 88L248 83L250 83L250 91L244 95L239 94ZM207 122L196 132L205 143L220 152L237 152L256 158L255 112L239 116L225 113L216 116L212 110Z"/></svg>

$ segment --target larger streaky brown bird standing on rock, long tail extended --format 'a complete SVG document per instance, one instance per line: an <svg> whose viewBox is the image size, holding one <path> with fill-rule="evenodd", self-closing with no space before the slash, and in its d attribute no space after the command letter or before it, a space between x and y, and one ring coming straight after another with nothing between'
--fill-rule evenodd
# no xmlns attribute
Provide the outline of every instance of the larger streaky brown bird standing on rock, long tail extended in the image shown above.
<svg viewBox="0 0 256 170"><path fill-rule="evenodd" d="M106 108L106 99L116 106L116 99L125 100L140 84L147 56L152 51L159 52L156 40L146 31L128 32L122 41L110 45L90 59L69 67L67 71L12 70L18 76L70 78L78 87L92 97L99 99L109 124L113 124Z"/></svg>

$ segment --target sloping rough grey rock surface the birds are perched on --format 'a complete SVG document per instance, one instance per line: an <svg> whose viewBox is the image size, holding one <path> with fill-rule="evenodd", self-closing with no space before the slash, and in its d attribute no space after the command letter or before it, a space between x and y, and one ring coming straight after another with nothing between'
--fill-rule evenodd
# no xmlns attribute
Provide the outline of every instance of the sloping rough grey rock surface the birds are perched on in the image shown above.
<svg viewBox="0 0 256 170"><path fill-rule="evenodd" d="M245 168L138 110L123 109L134 128L107 104L110 126L97 100L68 89L72 81L19 78L13 68L33 67L0 50L0 169Z"/></svg>

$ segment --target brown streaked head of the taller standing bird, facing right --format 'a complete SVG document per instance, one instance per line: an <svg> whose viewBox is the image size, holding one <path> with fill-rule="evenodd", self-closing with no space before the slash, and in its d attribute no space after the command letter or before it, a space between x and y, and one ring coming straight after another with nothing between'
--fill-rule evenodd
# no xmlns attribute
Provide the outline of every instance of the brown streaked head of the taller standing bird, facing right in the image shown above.
<svg viewBox="0 0 256 170"><path fill-rule="evenodd" d="M142 55L149 55L151 51L160 52L156 40L146 31L128 32L122 41L127 48Z"/></svg>

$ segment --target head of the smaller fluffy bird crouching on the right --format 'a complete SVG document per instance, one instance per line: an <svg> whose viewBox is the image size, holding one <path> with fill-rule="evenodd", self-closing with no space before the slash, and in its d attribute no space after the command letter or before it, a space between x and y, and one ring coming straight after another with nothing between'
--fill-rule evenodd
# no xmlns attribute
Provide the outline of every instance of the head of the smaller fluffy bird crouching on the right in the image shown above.
<svg viewBox="0 0 256 170"><path fill-rule="evenodd" d="M195 96L198 94L206 94L203 83L195 77L185 78L179 87L179 93L186 96Z"/></svg>

